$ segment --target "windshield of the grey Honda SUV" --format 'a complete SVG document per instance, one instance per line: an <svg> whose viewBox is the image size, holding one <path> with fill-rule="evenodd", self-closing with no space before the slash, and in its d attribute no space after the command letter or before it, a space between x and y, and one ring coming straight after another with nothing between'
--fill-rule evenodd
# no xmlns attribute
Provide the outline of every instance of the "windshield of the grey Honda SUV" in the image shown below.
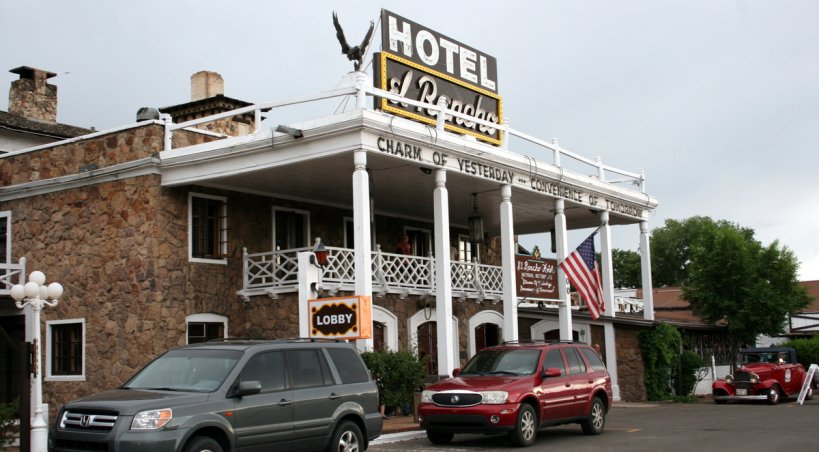
<svg viewBox="0 0 819 452"><path fill-rule="evenodd" d="M145 366L122 389L215 391L241 358L237 350L171 350Z"/></svg>

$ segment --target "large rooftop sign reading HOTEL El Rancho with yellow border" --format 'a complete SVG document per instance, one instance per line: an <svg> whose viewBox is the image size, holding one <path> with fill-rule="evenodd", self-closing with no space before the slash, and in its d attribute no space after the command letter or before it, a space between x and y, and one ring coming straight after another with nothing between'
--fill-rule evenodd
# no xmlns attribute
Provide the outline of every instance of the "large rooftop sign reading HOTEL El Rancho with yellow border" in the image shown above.
<svg viewBox="0 0 819 452"><path fill-rule="evenodd" d="M382 52L373 57L375 85L420 102L447 99L447 108L500 124L501 98L497 94L498 66L494 57L454 39L381 10ZM427 124L437 122L437 111L376 99L376 108ZM447 115L447 130L500 144L501 131Z"/></svg>

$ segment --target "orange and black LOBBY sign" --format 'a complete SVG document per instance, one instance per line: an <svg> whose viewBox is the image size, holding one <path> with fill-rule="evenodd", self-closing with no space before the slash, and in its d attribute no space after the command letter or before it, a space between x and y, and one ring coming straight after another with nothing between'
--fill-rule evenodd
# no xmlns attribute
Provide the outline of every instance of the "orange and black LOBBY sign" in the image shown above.
<svg viewBox="0 0 819 452"><path fill-rule="evenodd" d="M373 333L370 297L338 297L307 300L310 337L370 339Z"/></svg>

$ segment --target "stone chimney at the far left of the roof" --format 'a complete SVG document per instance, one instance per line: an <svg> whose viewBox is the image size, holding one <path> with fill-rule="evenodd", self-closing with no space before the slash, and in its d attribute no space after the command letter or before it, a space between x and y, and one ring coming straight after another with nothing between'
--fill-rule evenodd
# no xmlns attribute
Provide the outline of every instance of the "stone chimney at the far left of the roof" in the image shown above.
<svg viewBox="0 0 819 452"><path fill-rule="evenodd" d="M57 74L20 66L12 69L20 79L11 82L9 89L9 113L28 119L57 122L57 87L47 80Z"/></svg>

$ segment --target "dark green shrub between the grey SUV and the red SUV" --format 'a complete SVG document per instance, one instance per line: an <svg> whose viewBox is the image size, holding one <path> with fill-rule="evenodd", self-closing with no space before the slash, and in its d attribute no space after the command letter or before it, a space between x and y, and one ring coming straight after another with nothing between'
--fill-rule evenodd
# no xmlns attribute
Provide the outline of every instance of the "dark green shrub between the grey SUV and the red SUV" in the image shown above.
<svg viewBox="0 0 819 452"><path fill-rule="evenodd" d="M361 357L378 380L384 405L403 407L412 404L415 391L426 376L423 358L408 351L364 352Z"/></svg>

